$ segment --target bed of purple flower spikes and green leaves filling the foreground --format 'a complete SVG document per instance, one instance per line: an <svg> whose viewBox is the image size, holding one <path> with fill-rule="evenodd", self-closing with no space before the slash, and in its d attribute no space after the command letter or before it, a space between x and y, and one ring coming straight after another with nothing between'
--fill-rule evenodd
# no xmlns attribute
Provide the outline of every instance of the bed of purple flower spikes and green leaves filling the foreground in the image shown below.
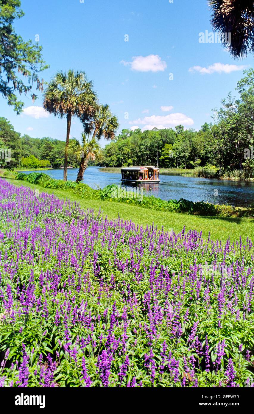
<svg viewBox="0 0 254 414"><path fill-rule="evenodd" d="M253 384L251 240L109 221L0 180L0 385Z"/></svg>

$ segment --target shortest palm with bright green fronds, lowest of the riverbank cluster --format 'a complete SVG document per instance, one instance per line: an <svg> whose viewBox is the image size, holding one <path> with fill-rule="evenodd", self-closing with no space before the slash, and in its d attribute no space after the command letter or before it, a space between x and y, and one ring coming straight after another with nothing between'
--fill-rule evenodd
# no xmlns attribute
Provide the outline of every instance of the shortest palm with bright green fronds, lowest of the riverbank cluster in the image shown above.
<svg viewBox="0 0 254 414"><path fill-rule="evenodd" d="M89 138L86 137L86 134L81 135L81 143L77 138L73 138L69 142L68 153L74 154L77 160L79 161L79 172L77 175L76 183L80 183L83 180L84 172L88 161L100 161L102 159L102 150L100 144L97 142L95 137L92 137L89 141Z"/></svg>

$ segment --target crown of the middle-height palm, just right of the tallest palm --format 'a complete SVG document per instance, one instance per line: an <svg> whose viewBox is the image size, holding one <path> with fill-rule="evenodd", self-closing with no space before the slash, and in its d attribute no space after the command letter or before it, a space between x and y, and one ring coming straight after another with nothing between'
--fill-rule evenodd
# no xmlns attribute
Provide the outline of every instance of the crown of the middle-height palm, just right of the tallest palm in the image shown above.
<svg viewBox="0 0 254 414"><path fill-rule="evenodd" d="M106 140L113 140L119 127L118 118L112 115L109 105L99 105L89 121L81 116L81 122L84 125L84 132L88 135L93 132L93 138L96 137L98 140L103 136Z"/></svg>

